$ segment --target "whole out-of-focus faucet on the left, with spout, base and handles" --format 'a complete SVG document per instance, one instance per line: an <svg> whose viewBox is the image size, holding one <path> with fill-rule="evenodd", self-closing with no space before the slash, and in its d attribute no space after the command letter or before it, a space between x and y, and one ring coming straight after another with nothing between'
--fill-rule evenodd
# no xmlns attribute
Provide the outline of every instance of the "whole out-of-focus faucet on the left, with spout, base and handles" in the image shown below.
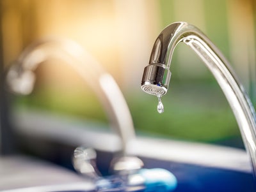
<svg viewBox="0 0 256 192"><path fill-rule="evenodd" d="M124 96L112 76L102 70L99 64L75 42L42 40L24 50L6 75L6 82L11 91L19 94L29 94L33 91L34 71L40 63L48 59L62 59L67 62L91 85L102 101L106 114L109 115L113 128L122 142L122 155L111 161L113 176L100 175L95 161L96 152L86 147L77 147L74 151L72 160L77 172L91 179L97 191L102 192L138 191L147 188L149 191L157 191L158 188L161 189L160 191L175 189L177 179L171 172L160 168L142 169L143 162L139 158L127 156L127 145L135 137L135 133Z"/></svg>

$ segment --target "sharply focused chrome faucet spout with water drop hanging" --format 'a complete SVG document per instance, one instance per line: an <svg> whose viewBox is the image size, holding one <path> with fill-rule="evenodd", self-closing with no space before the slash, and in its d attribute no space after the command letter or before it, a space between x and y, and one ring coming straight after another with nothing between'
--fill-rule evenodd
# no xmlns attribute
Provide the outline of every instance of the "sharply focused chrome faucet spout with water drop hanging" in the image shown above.
<svg viewBox="0 0 256 192"><path fill-rule="evenodd" d="M236 117L244 146L250 156L253 175L256 176L256 115L243 86L237 80L230 64L212 42L198 28L186 22L175 22L164 28L157 37L149 65L145 67L141 89L159 98L157 110L163 112L161 96L168 91L170 64L176 45L189 45L209 68L224 92ZM256 177L255 177L256 178Z"/></svg>

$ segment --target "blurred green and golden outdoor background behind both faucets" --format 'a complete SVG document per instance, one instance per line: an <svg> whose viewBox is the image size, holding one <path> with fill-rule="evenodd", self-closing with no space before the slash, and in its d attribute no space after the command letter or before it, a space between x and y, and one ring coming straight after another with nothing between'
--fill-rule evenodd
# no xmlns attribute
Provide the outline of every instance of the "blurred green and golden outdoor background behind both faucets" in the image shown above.
<svg viewBox="0 0 256 192"><path fill-rule="evenodd" d="M158 34L172 22L186 21L220 48L255 107L255 8L255 0L2 0L4 66L44 36L70 38L118 82L137 134L241 147L225 96L186 45L179 45L173 55L163 114L157 113L157 98L140 90L140 80ZM29 96L16 96L15 109L40 108L108 124L95 94L65 63L50 61L36 74L35 90Z"/></svg>

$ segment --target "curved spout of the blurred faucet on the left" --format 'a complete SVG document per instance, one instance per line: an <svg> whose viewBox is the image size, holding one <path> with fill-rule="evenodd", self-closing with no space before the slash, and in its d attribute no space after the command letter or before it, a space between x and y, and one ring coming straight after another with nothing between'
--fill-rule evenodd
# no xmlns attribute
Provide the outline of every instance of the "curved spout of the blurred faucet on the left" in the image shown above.
<svg viewBox="0 0 256 192"><path fill-rule="evenodd" d="M106 73L93 57L77 43L63 39L44 39L22 52L6 75L13 92L29 94L35 82L35 69L49 59L60 59L70 64L83 80L92 87L105 108L125 153L129 140L134 138L134 126L129 108L114 78Z"/></svg>

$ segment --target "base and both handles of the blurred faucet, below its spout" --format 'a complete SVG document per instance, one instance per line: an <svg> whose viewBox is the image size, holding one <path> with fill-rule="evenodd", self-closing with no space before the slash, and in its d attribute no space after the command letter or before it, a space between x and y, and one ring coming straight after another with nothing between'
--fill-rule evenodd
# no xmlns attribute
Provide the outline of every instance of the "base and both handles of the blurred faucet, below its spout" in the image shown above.
<svg viewBox="0 0 256 192"><path fill-rule="evenodd" d="M111 168L115 174L102 177L96 167L96 156L94 149L86 147L77 147L73 155L74 168L95 182L95 191L170 192L177 187L172 173L161 168L142 168L143 161L135 156L114 158Z"/></svg>

